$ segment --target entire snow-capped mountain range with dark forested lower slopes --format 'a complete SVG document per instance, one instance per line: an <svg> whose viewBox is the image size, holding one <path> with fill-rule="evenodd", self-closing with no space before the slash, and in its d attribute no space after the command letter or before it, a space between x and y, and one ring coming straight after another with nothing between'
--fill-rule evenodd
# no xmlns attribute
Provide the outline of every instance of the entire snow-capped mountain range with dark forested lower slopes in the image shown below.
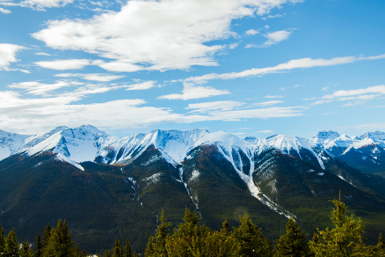
<svg viewBox="0 0 385 257"><path fill-rule="evenodd" d="M371 231L368 240L385 232L385 133L378 131L239 139L155 130L117 138L91 125L61 126L34 136L0 131L0 160L0 224L30 241L63 218L81 248L98 252L128 237L140 252L162 209L176 225L186 207L215 229L248 212L274 239L288 217L308 233L328 226L328 201L339 191Z"/></svg>

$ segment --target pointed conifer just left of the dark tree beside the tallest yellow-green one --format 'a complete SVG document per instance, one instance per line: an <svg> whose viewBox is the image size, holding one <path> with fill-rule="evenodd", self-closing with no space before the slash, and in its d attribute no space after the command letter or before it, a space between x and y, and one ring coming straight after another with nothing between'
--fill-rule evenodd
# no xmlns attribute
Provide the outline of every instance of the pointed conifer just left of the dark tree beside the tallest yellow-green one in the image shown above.
<svg viewBox="0 0 385 257"><path fill-rule="evenodd" d="M272 243L262 234L261 228L254 225L249 215L240 217L241 225L234 227L234 235L240 242L240 255L245 257L269 257L273 255Z"/></svg>

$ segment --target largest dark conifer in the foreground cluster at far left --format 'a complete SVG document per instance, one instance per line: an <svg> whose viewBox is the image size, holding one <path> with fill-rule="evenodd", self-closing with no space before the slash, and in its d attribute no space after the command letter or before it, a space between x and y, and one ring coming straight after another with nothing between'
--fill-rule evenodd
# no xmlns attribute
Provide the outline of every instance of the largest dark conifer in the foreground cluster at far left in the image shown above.
<svg viewBox="0 0 385 257"><path fill-rule="evenodd" d="M50 230L51 236L43 241L46 245L44 257L78 257L79 248L71 240L66 221L59 220L56 228Z"/></svg>

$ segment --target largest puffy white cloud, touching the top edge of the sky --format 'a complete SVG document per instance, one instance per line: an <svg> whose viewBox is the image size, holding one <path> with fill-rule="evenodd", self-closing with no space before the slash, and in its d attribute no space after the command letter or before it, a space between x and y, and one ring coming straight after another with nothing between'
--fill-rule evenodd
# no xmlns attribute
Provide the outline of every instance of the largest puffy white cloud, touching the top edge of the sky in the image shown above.
<svg viewBox="0 0 385 257"><path fill-rule="evenodd" d="M205 43L236 34L235 19L266 15L295 0L131 0L120 12L90 19L51 20L32 36L48 47L79 50L112 59L100 64L109 71L188 69L218 65L224 45Z"/></svg>

